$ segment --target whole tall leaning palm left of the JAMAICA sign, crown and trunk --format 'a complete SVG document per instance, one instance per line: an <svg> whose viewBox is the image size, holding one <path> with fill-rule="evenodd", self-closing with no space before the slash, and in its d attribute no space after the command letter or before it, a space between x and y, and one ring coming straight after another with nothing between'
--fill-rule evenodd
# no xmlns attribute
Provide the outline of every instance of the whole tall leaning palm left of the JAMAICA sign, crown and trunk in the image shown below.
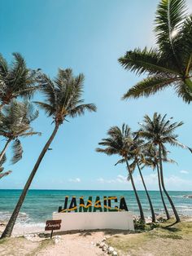
<svg viewBox="0 0 192 256"><path fill-rule="evenodd" d="M72 74L72 69L59 69L59 73L53 81L50 80L50 78L46 75L42 75L40 82L44 85L41 87L41 91L45 96L45 102L36 102L36 104L45 110L48 117L53 118L55 127L44 148L42 148L39 157L37 158L37 162L28 177L28 181L24 186L24 190L20 195L20 199L15 206L15 210L13 211L1 238L11 236L12 229L15 225L15 220L20 212L20 208L24 202L28 188L33 181L33 177L36 174L37 169L46 154L46 151L50 147L50 143L55 138L55 135L59 130L59 126L63 124L63 121L66 121L66 117L81 116L85 113L85 110L88 110L89 112L96 111L96 106L94 104L83 104L84 100L81 99L84 82L83 74L74 77Z"/></svg>

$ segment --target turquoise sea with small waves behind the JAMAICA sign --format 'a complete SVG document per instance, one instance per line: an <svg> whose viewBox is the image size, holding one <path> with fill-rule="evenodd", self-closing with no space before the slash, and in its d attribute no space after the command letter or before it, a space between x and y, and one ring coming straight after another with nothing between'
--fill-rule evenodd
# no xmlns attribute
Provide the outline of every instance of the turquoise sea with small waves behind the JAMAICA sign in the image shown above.
<svg viewBox="0 0 192 256"><path fill-rule="evenodd" d="M0 190L0 221L7 221L11 211L20 196L21 190ZM192 216L192 198L185 196L192 195L192 192L169 192L172 196L179 214ZM151 216L150 207L148 205L146 194L143 191L138 191L138 195L142 201L144 213ZM159 192L150 191L151 200L153 202L155 213L163 213L163 205L160 200ZM52 218L52 213L58 211L59 206L63 206L65 196L84 196L85 201L88 196L93 196L93 201L96 196L124 196L128 209L133 214L138 214L137 202L133 191L88 191L88 190L29 190L24 201L24 205L20 211L18 218L19 223L45 223L46 219ZM168 201L166 201L168 203ZM118 205L118 203L117 203ZM168 209L170 209L168 205Z"/></svg>

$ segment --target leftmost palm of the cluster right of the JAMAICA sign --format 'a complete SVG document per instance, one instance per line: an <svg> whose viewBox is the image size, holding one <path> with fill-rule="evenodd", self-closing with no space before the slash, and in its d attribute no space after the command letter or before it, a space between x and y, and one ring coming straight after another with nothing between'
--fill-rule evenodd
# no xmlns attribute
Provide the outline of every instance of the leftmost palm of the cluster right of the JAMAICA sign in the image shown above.
<svg viewBox="0 0 192 256"><path fill-rule="evenodd" d="M133 142L131 130L129 126L125 126L125 124L123 124L121 130L118 126L112 126L111 129L107 131L107 135L108 135L107 139L102 139L102 142L98 143L99 145L104 146L106 148L96 148L96 151L103 152L108 156L119 155L120 157L123 158L123 161L125 161L127 170L129 172L129 179L131 180L131 183L133 186L133 191L137 200L140 217L145 222L145 217L142 210L142 204L140 202L140 199L137 194L137 190L135 188L135 184L133 181L133 175L132 175L133 170L129 165L129 152L130 152L129 148ZM122 162L122 159L117 163L119 162Z"/></svg>

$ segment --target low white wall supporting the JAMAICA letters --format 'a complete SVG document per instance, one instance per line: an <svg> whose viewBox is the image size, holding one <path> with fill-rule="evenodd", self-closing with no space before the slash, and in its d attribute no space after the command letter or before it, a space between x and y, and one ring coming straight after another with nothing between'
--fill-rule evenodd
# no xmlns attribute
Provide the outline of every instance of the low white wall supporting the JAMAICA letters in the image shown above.
<svg viewBox="0 0 192 256"><path fill-rule="evenodd" d="M53 219L61 219L59 231L89 229L134 230L133 216L128 211L94 213L53 213Z"/></svg>

